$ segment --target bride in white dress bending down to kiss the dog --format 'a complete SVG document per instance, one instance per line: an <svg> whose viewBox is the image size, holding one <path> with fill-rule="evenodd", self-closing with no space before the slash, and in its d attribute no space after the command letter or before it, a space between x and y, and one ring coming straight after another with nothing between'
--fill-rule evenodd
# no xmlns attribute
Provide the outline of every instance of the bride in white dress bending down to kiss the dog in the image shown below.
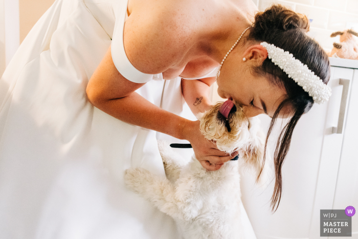
<svg viewBox="0 0 358 239"><path fill-rule="evenodd" d="M308 28L305 16L279 5L258 12L251 0L56 0L0 80L0 236L180 238L123 172L165 177L157 139L189 141L207 170L235 157L204 139L194 117L211 106L215 80L248 117L289 118L274 209L297 120L329 96L328 57ZM299 63L284 65L283 51Z"/></svg>

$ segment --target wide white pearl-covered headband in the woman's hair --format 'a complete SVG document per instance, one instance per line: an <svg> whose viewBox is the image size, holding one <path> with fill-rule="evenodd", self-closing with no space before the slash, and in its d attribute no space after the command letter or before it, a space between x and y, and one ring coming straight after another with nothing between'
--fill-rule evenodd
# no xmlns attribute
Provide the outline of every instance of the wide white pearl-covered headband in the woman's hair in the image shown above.
<svg viewBox="0 0 358 239"><path fill-rule="evenodd" d="M315 103L321 104L328 101L331 96L329 86L323 83L322 79L310 71L300 60L295 59L289 52L265 41L260 45L269 53L269 59L300 85L314 99Z"/></svg>

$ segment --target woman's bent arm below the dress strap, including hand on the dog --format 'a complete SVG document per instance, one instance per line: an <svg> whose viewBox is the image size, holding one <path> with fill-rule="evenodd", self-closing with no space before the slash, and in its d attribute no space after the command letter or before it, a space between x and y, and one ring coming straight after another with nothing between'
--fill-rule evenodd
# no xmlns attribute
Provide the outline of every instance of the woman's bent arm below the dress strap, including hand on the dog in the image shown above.
<svg viewBox="0 0 358 239"><path fill-rule="evenodd" d="M143 85L127 80L118 72L109 48L89 80L86 93L92 104L119 120L188 140L196 158L208 170L219 169L232 158L201 135L198 121L162 110L134 92Z"/></svg>

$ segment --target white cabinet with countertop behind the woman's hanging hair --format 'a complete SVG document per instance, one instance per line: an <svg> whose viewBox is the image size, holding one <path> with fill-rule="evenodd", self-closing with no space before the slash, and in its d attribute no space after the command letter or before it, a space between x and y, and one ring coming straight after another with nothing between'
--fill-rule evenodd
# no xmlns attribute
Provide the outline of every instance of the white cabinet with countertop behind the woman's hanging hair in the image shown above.
<svg viewBox="0 0 358 239"><path fill-rule="evenodd" d="M250 172L241 172L242 201L257 239L327 238L320 237L321 209L358 209L358 61L330 58L330 62L332 96L315 104L294 130L275 213L270 209L275 181L266 189L258 188ZM341 103L345 97L340 82L346 82L346 104ZM332 133L340 117L342 133ZM271 119L260 118L267 127ZM271 151L278 132L272 134ZM358 213L352 217L351 238L358 238Z"/></svg>

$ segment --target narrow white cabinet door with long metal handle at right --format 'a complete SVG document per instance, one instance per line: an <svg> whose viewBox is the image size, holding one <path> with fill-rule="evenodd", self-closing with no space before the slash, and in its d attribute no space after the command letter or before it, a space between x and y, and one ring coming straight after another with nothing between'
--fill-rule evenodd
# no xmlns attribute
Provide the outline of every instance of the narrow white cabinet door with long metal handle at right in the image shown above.
<svg viewBox="0 0 358 239"><path fill-rule="evenodd" d="M342 142L345 130L345 120L343 121L342 134L332 133L333 127L339 124L339 115L341 102L343 97L343 85L340 85L340 79L348 79L348 99L350 93L350 85L353 78L353 69L332 67L332 77L330 85L332 88L332 96L328 102L328 110L326 115L326 123L324 128L324 138L322 145L322 155L320 159L320 167L318 170L318 178L316 181L315 203L312 210L312 218L310 225L310 239L327 238L320 236L320 210L321 209L344 209L333 208L334 193L337 183L338 169L341 158ZM345 105L347 109L348 105ZM346 118L347 110L342 112L343 119ZM347 205L348 206L348 205Z"/></svg>

